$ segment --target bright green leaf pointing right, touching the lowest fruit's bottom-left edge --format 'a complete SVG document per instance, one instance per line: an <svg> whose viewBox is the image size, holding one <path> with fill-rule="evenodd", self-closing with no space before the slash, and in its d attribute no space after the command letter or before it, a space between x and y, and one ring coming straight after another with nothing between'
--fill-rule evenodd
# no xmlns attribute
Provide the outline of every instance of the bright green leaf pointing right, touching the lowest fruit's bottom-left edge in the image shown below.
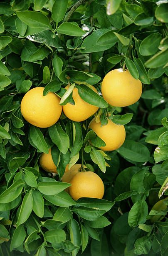
<svg viewBox="0 0 168 256"><path fill-rule="evenodd" d="M76 205L72 197L64 191L57 195L43 195L43 197L49 202L51 202L53 205L57 205L60 207L69 207L72 205Z"/></svg>

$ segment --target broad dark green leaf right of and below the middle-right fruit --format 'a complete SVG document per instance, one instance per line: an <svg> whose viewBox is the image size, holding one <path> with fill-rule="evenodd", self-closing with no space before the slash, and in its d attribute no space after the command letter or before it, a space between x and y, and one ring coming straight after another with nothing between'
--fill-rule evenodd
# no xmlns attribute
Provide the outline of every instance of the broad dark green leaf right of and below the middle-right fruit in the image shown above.
<svg viewBox="0 0 168 256"><path fill-rule="evenodd" d="M150 158L148 148L136 141L126 140L124 144L117 149L117 152L126 159L135 162L146 162Z"/></svg>

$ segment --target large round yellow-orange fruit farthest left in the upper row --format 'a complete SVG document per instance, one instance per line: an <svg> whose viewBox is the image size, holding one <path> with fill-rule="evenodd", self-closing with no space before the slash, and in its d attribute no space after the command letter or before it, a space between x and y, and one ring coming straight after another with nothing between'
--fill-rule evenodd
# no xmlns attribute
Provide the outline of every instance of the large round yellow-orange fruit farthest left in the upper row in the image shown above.
<svg viewBox="0 0 168 256"><path fill-rule="evenodd" d="M22 98L21 113L27 122L40 128L56 123L61 115L60 99L54 92L43 96L44 87L35 87Z"/></svg>

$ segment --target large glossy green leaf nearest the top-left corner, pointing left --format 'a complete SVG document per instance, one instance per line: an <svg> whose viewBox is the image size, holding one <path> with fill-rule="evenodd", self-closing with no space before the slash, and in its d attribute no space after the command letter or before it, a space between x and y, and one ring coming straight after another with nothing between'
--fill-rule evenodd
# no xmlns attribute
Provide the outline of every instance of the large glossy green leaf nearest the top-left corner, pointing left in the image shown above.
<svg viewBox="0 0 168 256"><path fill-rule="evenodd" d="M40 31L49 29L49 20L42 14L35 11L19 11L16 12L17 17L22 20L30 28L40 28Z"/></svg>

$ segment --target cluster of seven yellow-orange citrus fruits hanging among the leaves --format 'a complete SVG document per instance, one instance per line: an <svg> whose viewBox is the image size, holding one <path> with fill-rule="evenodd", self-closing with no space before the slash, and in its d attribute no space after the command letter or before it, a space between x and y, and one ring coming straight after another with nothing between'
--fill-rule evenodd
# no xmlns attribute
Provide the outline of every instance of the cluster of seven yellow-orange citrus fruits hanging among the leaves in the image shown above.
<svg viewBox="0 0 168 256"><path fill-rule="evenodd" d="M67 89L67 87L66 87ZM97 92L94 86L92 89ZM43 96L44 87L35 87L28 91L21 102L21 113L25 120L40 128L47 128L59 120L62 113L70 120L81 122L96 113L98 107L91 105L79 96L78 89L74 88L72 97L75 105L67 103L59 105L60 99L54 92ZM101 92L104 99L113 107L126 107L135 103L141 97L142 84L140 80L134 79L128 70L114 69L106 74L101 84ZM97 136L106 146L101 147L103 151L112 151L119 148L125 140L124 125L116 125L108 119L106 125L96 123L93 118L89 124ZM41 167L51 173L57 173L51 149L49 154L40 156ZM63 182L71 183L68 192L74 200L80 197L102 198L104 195L104 184L101 178L94 172L80 172L81 165L75 164L70 169L66 167L62 177Z"/></svg>

